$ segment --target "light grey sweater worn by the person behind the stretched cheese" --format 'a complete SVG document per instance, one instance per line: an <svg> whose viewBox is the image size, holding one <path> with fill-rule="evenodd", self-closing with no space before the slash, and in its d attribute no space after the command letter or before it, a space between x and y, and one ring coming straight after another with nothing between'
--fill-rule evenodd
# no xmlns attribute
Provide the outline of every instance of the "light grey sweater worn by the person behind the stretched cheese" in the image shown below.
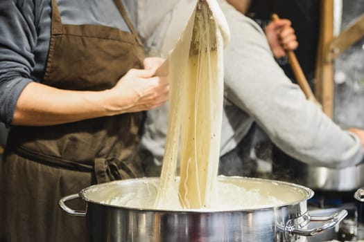
<svg viewBox="0 0 364 242"><path fill-rule="evenodd" d="M306 100L300 87L293 84L275 62L264 32L254 21L226 1L219 2L231 31L224 53L226 102L220 155L234 149L252 123L257 122L275 145L308 164L348 167L361 162L363 148L359 138L340 129L318 106ZM181 32L183 25L173 20L180 15L188 16L188 13L174 10L166 15L156 29L159 35L160 32L166 35L177 32L176 28ZM153 49L154 53L158 47L159 50L171 49L174 43L169 38L176 39L167 36L165 41L159 39L158 44L155 40L146 48ZM168 47L164 46L166 43ZM164 153L167 112L168 106L148 111L146 120L142 145L153 153L156 162L160 162Z"/></svg>

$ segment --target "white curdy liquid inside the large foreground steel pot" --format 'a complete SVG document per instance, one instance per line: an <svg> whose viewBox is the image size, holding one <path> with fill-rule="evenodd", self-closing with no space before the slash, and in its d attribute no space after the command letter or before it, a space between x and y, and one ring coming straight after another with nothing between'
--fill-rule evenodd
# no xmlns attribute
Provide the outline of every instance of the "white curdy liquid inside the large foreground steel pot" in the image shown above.
<svg viewBox="0 0 364 242"><path fill-rule="evenodd" d="M248 186L242 186L241 182L231 183L219 181L217 183L217 195L211 201L211 207L208 211L229 211L229 210L256 210L263 207L279 207L294 201L304 200L306 193L295 187L287 187L275 182L270 183L247 183ZM174 186L178 187L175 181ZM286 189L286 194L281 191ZM95 191L96 192L96 191ZM100 191L98 191L100 192ZM117 207L128 207L137 209L153 210L157 195L157 181L145 182L139 184L135 189L129 189L127 192L120 192L112 189L112 192L103 196L100 203L113 205ZM107 199L105 199L107 198ZM182 209L177 195L170 196L164 210L187 210ZM199 209L206 211L207 209Z"/></svg>

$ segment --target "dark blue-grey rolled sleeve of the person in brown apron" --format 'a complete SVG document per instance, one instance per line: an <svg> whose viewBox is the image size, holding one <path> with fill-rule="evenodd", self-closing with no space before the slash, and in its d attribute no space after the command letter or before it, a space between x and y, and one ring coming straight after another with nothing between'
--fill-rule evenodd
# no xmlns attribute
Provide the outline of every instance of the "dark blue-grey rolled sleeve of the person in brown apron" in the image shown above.
<svg viewBox="0 0 364 242"><path fill-rule="evenodd" d="M33 48L37 41L34 1L0 4L0 121L12 122L21 91L31 82Z"/></svg>

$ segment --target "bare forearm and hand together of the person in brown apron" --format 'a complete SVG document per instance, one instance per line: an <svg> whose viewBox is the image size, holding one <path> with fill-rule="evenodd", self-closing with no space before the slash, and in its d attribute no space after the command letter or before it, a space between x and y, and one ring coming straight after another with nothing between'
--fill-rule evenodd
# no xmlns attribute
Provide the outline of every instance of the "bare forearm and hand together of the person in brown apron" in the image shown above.
<svg viewBox="0 0 364 242"><path fill-rule="evenodd" d="M168 100L168 78L155 76L160 65L131 69L112 89L67 91L29 83L19 95L12 125L44 126L154 109Z"/></svg>

